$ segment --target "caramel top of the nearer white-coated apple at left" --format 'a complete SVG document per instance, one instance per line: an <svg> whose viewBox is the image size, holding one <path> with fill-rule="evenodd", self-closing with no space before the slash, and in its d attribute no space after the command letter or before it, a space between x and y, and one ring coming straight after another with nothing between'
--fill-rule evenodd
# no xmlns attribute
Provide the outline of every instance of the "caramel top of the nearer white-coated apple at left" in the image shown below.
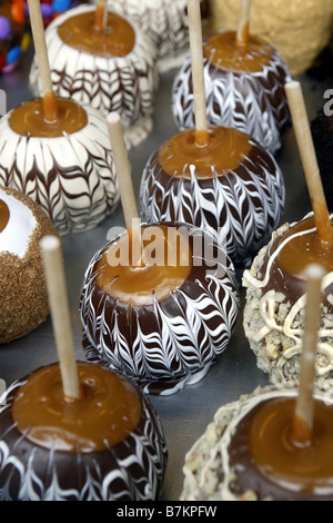
<svg viewBox="0 0 333 523"><path fill-rule="evenodd" d="M57 103L59 118L56 121L46 121L43 99L36 98L24 101L11 111L9 126L18 135L38 138L71 135L87 126L87 111L79 103L64 98L57 98Z"/></svg>

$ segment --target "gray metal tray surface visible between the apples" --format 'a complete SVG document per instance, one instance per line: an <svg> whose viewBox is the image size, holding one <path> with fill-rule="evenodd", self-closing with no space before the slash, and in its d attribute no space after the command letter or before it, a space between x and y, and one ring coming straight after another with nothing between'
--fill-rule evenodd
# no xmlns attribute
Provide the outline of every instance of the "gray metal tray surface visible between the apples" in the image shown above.
<svg viewBox="0 0 333 523"><path fill-rule="evenodd" d="M4 89L8 97L8 110L31 97L27 80L28 70L29 56L26 56L23 65L17 71L0 77L0 88ZM176 131L172 121L170 99L173 75L174 71L171 71L161 77L152 135L130 154L137 195L139 194L141 174L150 154ZM309 76L304 76L300 80L303 85L309 116L312 119L316 111L322 108L324 91L330 86L325 80L317 81ZM282 221L294 221L302 218L310 210L310 200L292 131L285 137L278 161L286 185L286 204ZM92 256L104 245L109 228L114 225L124 226L121 206L95 229L87 234L63 238L71 322L79 359L84 359L78 312L83 274ZM243 300L242 289L241 296ZM46 324L24 338L0 346L0 378L9 385L37 367L56 359L57 352L49 318ZM215 411L223 403L236 399L240 394L250 393L258 385L266 383L268 377L256 368L254 355L249 349L244 337L241 310L229 347L203 381L184 388L173 396L151 396L151 401L162 420L169 448L169 464L161 493L162 500L179 500L183 483L182 465L185 453L205 431Z"/></svg>

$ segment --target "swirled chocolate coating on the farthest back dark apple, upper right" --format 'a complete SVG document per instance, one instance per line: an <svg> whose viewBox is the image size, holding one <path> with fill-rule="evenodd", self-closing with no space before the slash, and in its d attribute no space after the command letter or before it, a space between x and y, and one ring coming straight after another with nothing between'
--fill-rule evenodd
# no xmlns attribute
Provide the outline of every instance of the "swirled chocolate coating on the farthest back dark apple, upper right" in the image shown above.
<svg viewBox="0 0 333 523"><path fill-rule="evenodd" d="M172 86L172 112L179 129L194 127L191 56L188 55ZM260 72L223 71L204 58L208 122L234 127L255 138L273 155L290 126L284 83L289 69L278 51Z"/></svg>

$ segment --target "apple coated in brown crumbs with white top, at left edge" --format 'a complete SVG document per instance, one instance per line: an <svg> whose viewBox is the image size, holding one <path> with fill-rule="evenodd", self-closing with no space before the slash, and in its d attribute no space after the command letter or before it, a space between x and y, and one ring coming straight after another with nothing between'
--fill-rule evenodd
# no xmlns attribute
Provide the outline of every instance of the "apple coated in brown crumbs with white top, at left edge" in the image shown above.
<svg viewBox="0 0 333 523"><path fill-rule="evenodd" d="M57 234L39 205L0 188L0 344L29 334L49 314L38 243Z"/></svg>

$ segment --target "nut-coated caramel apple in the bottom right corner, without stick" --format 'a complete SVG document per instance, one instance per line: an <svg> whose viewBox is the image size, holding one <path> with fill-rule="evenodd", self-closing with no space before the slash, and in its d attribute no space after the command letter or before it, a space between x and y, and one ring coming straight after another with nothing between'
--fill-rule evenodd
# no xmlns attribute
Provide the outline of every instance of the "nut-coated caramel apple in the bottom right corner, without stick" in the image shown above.
<svg viewBox="0 0 333 523"><path fill-rule="evenodd" d="M186 454L182 501L332 501L332 404L315 394L313 440L292 437L295 389L222 406Z"/></svg>

